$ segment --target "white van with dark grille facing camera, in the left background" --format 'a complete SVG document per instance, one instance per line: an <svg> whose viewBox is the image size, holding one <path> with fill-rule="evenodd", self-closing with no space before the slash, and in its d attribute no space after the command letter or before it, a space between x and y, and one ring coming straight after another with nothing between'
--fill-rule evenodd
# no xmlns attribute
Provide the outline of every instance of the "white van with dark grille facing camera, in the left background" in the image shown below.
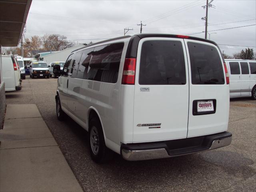
<svg viewBox="0 0 256 192"><path fill-rule="evenodd" d="M46 62L33 61L33 62L31 62L29 70L30 70L31 78L35 78L35 77L49 78L50 77L49 68L48 68Z"/></svg>

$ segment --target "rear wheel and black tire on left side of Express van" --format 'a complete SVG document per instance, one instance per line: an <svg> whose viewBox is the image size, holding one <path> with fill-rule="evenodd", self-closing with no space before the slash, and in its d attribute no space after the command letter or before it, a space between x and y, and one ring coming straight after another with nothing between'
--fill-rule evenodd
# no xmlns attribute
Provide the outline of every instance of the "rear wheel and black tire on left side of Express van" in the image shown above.
<svg viewBox="0 0 256 192"><path fill-rule="evenodd" d="M106 147L102 126L98 118L89 122L89 145L91 158L96 163L105 163L113 158L113 151Z"/></svg>

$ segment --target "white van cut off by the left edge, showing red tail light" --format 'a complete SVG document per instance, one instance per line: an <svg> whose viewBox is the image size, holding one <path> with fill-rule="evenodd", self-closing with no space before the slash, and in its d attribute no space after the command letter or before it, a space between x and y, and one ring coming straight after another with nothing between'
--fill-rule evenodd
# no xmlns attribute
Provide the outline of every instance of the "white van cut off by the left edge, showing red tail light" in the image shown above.
<svg viewBox="0 0 256 192"><path fill-rule="evenodd" d="M2 55L2 78L5 91L21 90L20 69L14 56Z"/></svg>

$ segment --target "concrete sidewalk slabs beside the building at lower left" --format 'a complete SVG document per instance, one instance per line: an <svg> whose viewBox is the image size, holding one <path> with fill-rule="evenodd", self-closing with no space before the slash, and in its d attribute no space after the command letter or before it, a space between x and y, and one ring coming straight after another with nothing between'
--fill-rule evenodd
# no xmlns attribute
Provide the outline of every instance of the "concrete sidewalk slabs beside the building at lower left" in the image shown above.
<svg viewBox="0 0 256 192"><path fill-rule="evenodd" d="M82 192L35 104L7 105L0 192Z"/></svg>

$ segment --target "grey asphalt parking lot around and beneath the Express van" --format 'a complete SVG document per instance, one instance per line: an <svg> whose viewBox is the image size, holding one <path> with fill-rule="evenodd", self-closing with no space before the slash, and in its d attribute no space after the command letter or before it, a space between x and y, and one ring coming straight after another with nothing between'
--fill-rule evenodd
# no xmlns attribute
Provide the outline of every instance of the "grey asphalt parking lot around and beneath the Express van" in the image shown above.
<svg viewBox="0 0 256 192"><path fill-rule="evenodd" d="M87 133L73 120L56 118L57 79L26 76L22 90L6 92L7 104L36 104L84 191L255 191L256 101L230 100L230 146L159 160L108 164L90 159ZM24 119L24 123L29 120Z"/></svg>

